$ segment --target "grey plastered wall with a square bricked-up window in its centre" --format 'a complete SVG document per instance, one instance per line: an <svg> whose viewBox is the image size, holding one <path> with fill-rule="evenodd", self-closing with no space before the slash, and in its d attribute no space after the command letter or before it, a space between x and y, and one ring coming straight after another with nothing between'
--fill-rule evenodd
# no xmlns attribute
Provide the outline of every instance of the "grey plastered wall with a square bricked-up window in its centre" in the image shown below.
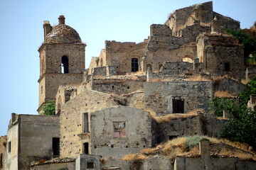
<svg viewBox="0 0 256 170"><path fill-rule="evenodd" d="M116 106L90 115L92 154L122 158L151 147L151 118L137 108Z"/></svg>

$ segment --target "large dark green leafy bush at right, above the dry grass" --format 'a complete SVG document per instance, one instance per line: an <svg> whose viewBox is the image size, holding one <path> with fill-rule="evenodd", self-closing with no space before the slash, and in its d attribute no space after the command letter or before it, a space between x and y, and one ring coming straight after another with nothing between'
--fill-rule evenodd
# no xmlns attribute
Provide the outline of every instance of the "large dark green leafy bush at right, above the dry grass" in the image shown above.
<svg viewBox="0 0 256 170"><path fill-rule="evenodd" d="M224 110L230 111L230 120L225 123L221 137L246 142L256 149L256 111L247 108L252 94L256 94L256 77L249 81L245 90L238 95L239 103L228 98L213 98L210 111L217 116L221 116Z"/></svg>

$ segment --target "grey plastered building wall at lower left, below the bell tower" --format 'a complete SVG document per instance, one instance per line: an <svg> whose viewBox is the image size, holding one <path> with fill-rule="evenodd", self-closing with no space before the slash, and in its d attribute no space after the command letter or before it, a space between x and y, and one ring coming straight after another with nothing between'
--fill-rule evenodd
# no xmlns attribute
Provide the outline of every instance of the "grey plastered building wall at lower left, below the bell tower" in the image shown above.
<svg viewBox="0 0 256 170"><path fill-rule="evenodd" d="M16 116L16 120L14 120ZM33 161L53 156L53 137L58 138L60 119L50 115L12 115L7 132L11 152L6 169L28 169Z"/></svg>

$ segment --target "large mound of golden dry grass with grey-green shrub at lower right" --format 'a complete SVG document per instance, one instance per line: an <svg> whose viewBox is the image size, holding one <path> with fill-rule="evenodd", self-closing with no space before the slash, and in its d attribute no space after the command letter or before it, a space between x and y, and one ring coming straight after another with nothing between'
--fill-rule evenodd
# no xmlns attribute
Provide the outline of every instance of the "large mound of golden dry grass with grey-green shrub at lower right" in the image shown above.
<svg viewBox="0 0 256 170"><path fill-rule="evenodd" d="M255 154L250 152L250 147L244 143L240 142L230 142L229 140L218 140L213 137L206 136L194 136L202 138L207 138L210 140L211 154L219 155L221 157L239 157L241 160L253 160L256 161ZM153 157L156 154L168 157L171 162L174 162L177 156L183 157L199 157L200 152L198 145L192 145L192 147L187 145L188 140L193 139L193 137L177 137L174 140L169 140L164 144L158 145L154 148L142 149L139 154L127 154L122 158L124 161L129 161L132 163L142 162L144 159ZM213 147L215 149L213 149ZM216 150L217 148L217 150Z"/></svg>

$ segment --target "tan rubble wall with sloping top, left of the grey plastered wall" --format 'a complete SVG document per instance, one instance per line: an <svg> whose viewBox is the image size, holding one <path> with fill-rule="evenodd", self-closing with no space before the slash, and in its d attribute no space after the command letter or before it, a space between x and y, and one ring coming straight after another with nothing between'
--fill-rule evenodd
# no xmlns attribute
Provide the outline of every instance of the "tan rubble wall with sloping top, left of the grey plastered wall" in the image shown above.
<svg viewBox="0 0 256 170"><path fill-rule="evenodd" d="M117 105L114 97L87 89L65 103L60 112L60 157L78 157L79 154L84 154L83 144L87 142L90 145L90 113ZM85 113L89 117L88 132L84 129Z"/></svg>

